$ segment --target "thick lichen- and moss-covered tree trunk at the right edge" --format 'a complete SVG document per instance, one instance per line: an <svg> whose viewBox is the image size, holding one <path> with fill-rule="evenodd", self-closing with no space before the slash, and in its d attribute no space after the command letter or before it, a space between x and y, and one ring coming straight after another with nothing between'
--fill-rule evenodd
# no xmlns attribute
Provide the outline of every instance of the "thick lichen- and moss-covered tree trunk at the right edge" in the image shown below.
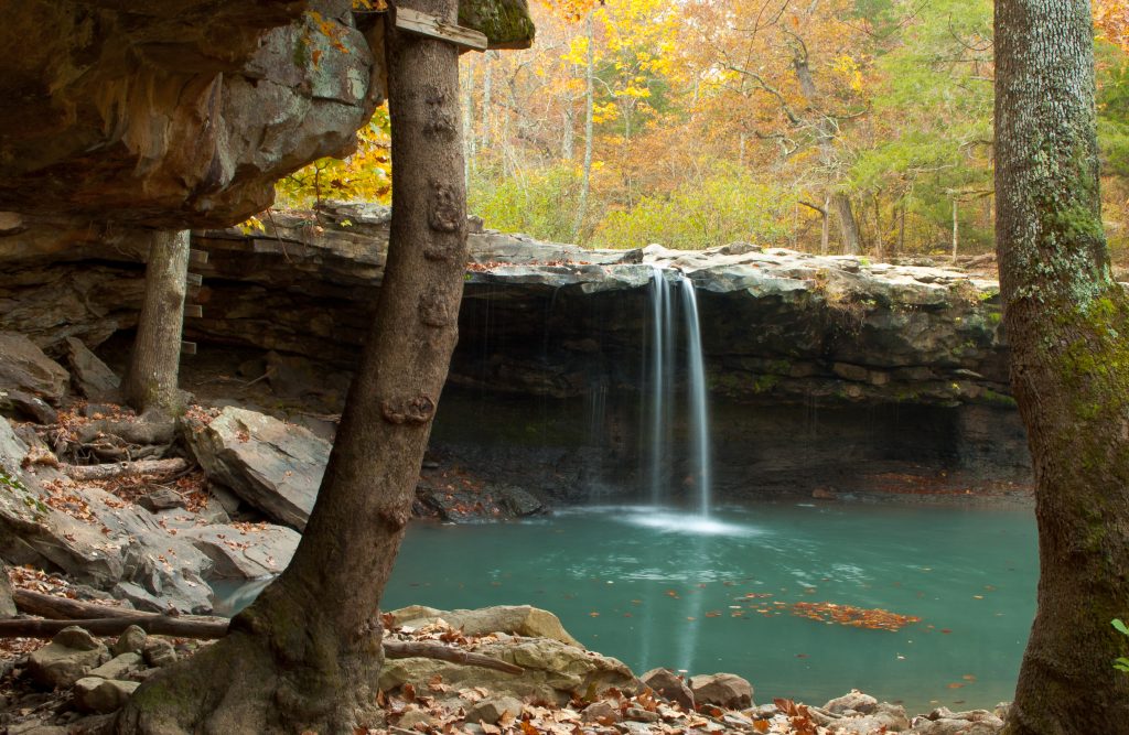
<svg viewBox="0 0 1129 735"><path fill-rule="evenodd" d="M1000 290L1042 567L1007 732L1123 733L1129 303L1102 231L1089 3L997 0L996 53Z"/></svg>

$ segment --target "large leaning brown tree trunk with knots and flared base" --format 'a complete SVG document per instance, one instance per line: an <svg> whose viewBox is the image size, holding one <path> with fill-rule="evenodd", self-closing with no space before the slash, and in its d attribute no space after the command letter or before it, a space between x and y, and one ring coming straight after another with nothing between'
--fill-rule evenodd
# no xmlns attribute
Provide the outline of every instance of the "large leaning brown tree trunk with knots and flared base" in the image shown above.
<svg viewBox="0 0 1129 735"><path fill-rule="evenodd" d="M448 23L456 6L400 3ZM317 504L282 576L226 638L146 682L119 733L338 735L376 723L377 605L455 345L467 255L457 49L390 28L386 50L391 246Z"/></svg>

